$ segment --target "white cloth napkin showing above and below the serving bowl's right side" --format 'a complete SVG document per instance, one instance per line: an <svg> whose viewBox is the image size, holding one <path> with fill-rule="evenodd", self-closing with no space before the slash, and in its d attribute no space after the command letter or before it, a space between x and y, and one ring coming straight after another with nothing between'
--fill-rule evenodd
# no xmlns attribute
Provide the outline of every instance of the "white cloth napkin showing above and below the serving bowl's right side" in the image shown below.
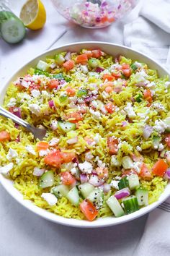
<svg viewBox="0 0 170 256"><path fill-rule="evenodd" d="M147 0L139 17L125 25L126 46L156 59L170 69L170 0ZM170 198L148 216L134 256L170 255Z"/></svg>

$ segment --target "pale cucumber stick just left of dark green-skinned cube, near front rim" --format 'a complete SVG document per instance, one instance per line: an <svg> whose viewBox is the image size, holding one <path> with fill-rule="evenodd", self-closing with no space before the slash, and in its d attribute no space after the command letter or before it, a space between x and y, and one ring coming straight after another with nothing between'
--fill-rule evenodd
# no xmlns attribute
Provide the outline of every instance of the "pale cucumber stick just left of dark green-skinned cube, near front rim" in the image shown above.
<svg viewBox="0 0 170 256"><path fill-rule="evenodd" d="M116 217L120 217L125 214L122 206L120 205L120 202L117 200L116 197L114 197L114 195L112 195L112 197L109 197L109 199L107 200L107 205Z"/></svg>

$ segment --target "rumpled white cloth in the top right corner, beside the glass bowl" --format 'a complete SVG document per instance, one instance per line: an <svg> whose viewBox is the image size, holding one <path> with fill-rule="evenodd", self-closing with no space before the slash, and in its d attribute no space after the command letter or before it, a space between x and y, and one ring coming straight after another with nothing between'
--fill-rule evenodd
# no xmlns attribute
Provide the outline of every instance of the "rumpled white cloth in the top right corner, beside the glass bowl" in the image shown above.
<svg viewBox="0 0 170 256"><path fill-rule="evenodd" d="M170 0L143 2L140 16L124 27L124 43L170 68ZM142 17L141 17L142 16Z"/></svg>

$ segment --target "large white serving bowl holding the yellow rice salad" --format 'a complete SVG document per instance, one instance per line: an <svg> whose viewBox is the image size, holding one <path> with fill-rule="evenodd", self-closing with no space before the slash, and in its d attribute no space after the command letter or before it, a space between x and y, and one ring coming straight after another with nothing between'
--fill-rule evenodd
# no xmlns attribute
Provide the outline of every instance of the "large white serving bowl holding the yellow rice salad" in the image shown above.
<svg viewBox="0 0 170 256"><path fill-rule="evenodd" d="M9 83L16 80L17 77L22 76L27 72L27 69L30 67L34 67L37 64L37 61L39 59L45 59L45 56L54 55L61 51L79 51L81 48L100 48L102 51L107 52L107 54L111 54L113 56L117 56L119 54L124 55L130 59L138 60L141 62L145 62L148 64L148 67L151 69L158 70L158 74L161 77L169 76L170 74L166 69L161 67L160 64L158 64L153 59L149 58L145 54L141 54L138 51L134 51L131 48L125 47L125 46L119 46L115 45L113 43L104 43L104 42L81 42L81 43L71 43L67 44L65 46L61 46L58 48L55 48L50 51L46 51L43 54L40 54L39 56L36 56L35 59L28 62L27 64L24 64L21 69L17 73L15 73L9 82L6 83L6 85L1 85L0 88L0 103L2 104L4 94L6 92L6 88L8 87ZM122 216L120 218L115 218L114 216L108 217L108 218L99 218L96 221L90 222L90 221L79 221L73 218L63 218L61 216L57 216L54 213L50 213L47 210L43 210L42 208L38 208L35 206L31 201L24 200L22 197L22 194L13 187L12 181L9 179L6 179L3 175L0 174L0 182L2 186L6 189L7 192L9 192L12 197L14 197L15 200L17 200L21 205L23 205L25 208L31 210L33 213L36 213L38 216L41 216L43 218L46 218L49 221L53 221L55 223L61 223L66 226L74 226L74 227L84 227L84 228L97 228L97 227L104 227L104 226L112 226L117 225L120 223L124 223L127 221L132 221L135 218L138 218L140 216L143 216L144 214L150 212L154 208L156 208L158 205L160 205L164 200L166 200L167 197L170 196L170 184L167 184L164 193L162 193L161 197L159 197L157 202L154 202L151 205L148 205L144 208L141 208L140 210L136 211L135 213L131 213L130 215Z"/></svg>

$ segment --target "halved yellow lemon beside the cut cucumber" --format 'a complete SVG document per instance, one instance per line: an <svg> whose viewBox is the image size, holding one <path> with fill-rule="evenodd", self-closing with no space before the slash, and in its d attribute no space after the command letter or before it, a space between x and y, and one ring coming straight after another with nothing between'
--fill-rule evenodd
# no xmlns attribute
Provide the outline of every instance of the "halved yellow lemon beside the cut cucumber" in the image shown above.
<svg viewBox="0 0 170 256"><path fill-rule="evenodd" d="M25 27L30 28L30 30L39 30L45 25L45 7L40 0L28 0L23 5L19 17Z"/></svg>

